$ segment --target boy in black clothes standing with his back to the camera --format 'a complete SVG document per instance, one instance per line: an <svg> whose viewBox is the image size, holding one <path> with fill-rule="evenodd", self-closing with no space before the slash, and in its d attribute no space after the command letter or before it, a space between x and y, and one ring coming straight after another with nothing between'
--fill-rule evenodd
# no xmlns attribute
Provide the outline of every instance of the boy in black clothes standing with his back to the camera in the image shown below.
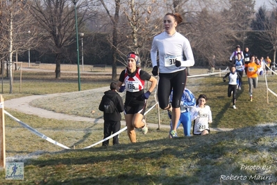
<svg viewBox="0 0 277 185"><path fill-rule="evenodd" d="M115 134L120 130L121 112L124 111L124 104L121 96L116 91L117 83L110 83L110 90L107 90L99 104L99 110L103 111L104 117L104 138ZM119 144L118 135L112 139L113 145ZM108 146L109 140L105 140L102 146Z"/></svg>

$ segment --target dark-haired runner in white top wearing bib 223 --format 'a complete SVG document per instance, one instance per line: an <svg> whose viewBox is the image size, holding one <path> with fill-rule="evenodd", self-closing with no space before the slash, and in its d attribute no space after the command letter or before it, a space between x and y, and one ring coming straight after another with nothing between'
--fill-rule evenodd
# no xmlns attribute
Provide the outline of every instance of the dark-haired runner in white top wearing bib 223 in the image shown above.
<svg viewBox="0 0 277 185"><path fill-rule="evenodd" d="M212 111L210 106L205 105L208 98L205 95L199 95L196 100L196 106L190 111L190 118L193 121L193 134L205 135L210 133L209 123L212 123Z"/></svg>

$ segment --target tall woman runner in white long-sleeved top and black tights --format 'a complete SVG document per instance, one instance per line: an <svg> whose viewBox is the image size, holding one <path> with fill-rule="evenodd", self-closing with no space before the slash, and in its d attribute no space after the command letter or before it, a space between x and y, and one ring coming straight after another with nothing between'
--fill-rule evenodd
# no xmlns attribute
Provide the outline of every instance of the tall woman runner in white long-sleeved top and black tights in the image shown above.
<svg viewBox="0 0 277 185"><path fill-rule="evenodd" d="M171 137L173 138L177 137L176 127L181 115L180 102L187 80L185 67L194 65L194 56L189 40L176 31L176 26L182 21L180 14L167 13L164 17L165 31L153 38L151 47L152 74L157 76L159 69L158 101L160 108L172 113ZM159 66L157 65L158 52ZM183 56L186 57L186 61ZM174 94L170 105L171 90Z"/></svg>

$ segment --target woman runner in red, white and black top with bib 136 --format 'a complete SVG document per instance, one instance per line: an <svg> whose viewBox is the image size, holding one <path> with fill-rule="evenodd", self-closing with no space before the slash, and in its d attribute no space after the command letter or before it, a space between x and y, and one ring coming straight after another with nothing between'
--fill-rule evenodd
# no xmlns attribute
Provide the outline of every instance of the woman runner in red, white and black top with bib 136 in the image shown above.
<svg viewBox="0 0 277 185"><path fill-rule="evenodd" d="M126 89L126 99L124 103L124 115L127 126L128 137L132 143L136 143L137 138L135 128L142 128L142 134L146 134L148 128L143 119L146 107L146 99L149 98L152 91L156 88L157 80L149 73L141 70L137 65L140 63L140 58L135 53L127 55L127 67L120 74L117 88L119 92ZM144 81L151 81L149 90L144 93ZM122 84L125 84L122 86Z"/></svg>

